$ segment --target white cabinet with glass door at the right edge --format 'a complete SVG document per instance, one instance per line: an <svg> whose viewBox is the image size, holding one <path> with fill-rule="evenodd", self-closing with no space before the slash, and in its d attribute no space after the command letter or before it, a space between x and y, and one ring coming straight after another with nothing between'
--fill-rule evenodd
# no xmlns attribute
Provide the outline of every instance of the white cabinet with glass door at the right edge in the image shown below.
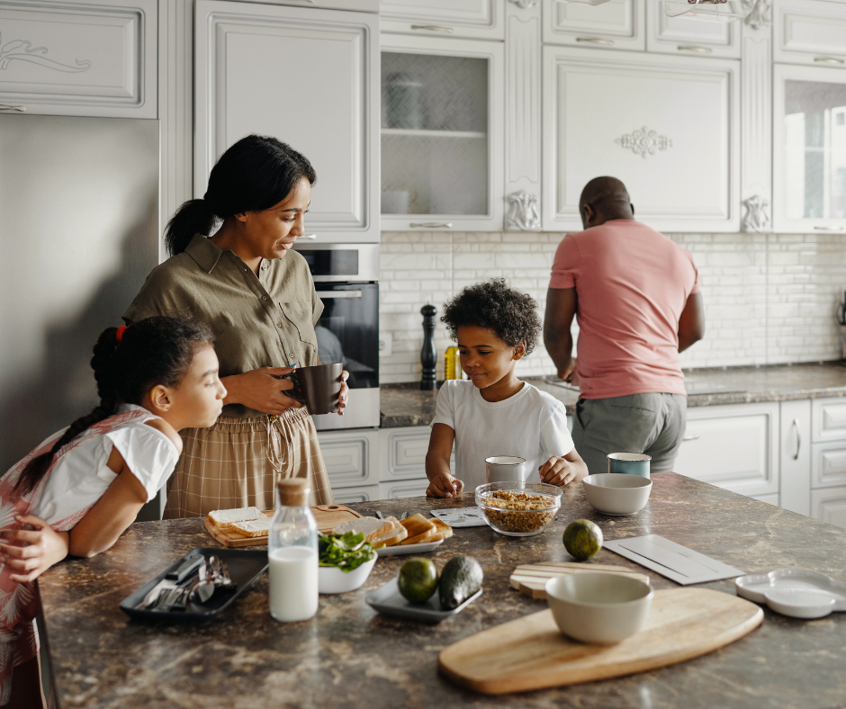
<svg viewBox="0 0 846 709"><path fill-rule="evenodd" d="M846 233L846 72L774 67L773 227Z"/></svg>

